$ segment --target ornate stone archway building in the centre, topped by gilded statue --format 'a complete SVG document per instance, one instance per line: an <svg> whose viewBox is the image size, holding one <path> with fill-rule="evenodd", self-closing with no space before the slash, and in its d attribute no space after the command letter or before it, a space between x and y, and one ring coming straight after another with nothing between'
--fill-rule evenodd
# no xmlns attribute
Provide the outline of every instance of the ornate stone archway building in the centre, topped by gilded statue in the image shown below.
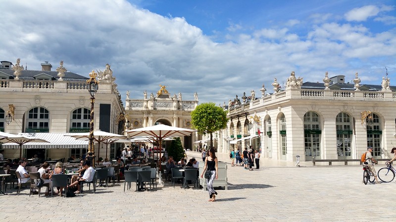
<svg viewBox="0 0 396 222"><path fill-rule="evenodd" d="M125 113L129 116L130 129L152 126L156 123L191 128L190 113L198 106L198 94L194 94L194 100L183 100L182 93L171 96L166 86L159 85L159 87L155 95L151 92L148 96L147 91L144 91L143 99L130 99L129 91L127 92ZM193 142L197 138L198 134L181 138L184 148L193 148Z"/></svg>

